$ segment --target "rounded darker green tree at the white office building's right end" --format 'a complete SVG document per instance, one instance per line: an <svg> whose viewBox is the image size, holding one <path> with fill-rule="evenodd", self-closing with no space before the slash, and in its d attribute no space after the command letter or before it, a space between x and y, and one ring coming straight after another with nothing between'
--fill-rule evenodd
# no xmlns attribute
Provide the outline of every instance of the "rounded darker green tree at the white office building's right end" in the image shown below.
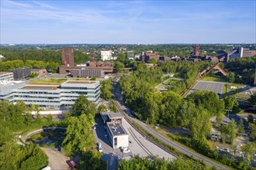
<svg viewBox="0 0 256 170"><path fill-rule="evenodd" d="M85 114L88 117L90 122L94 121L96 113L96 104L92 101L89 101L87 97L81 95L74 102L73 106L73 114L79 116L81 114Z"/></svg>

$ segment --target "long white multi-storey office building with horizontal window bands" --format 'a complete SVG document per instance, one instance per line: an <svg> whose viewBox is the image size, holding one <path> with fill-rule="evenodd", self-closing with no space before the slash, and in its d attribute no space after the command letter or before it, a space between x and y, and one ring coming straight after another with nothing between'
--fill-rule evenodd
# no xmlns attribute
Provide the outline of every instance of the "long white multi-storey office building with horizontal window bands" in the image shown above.
<svg viewBox="0 0 256 170"><path fill-rule="evenodd" d="M40 108L65 109L71 107L80 95L99 103L99 81L68 80L56 85L26 85L23 81L0 83L0 100L16 103L22 100L26 105Z"/></svg>

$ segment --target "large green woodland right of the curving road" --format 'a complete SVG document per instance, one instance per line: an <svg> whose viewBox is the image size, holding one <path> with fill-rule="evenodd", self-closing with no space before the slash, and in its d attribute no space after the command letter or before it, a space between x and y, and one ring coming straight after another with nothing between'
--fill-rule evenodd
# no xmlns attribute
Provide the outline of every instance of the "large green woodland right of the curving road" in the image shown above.
<svg viewBox="0 0 256 170"><path fill-rule="evenodd" d="M172 65L171 65L172 64ZM216 93L211 91L195 91L188 97L182 98L179 93L169 89L159 93L154 88L161 83L164 73L176 73L178 76L188 78L196 76L198 70L206 66L207 63L160 63L157 67L147 68L143 63L137 66L137 70L130 76L123 75L119 81L121 92L126 104L130 107L140 120L146 120L149 124L162 124L165 127L186 128L191 135L189 141L184 144L199 151L203 155L214 158L224 164L235 168L246 168L243 161L237 164L227 160L213 151L206 139L210 132L210 118L216 116L217 124L220 124L226 109L238 107L234 97L225 97L220 100ZM182 71L183 70L183 71ZM192 79L186 81L191 83ZM234 142L237 137L236 123L234 120L220 127L223 142Z"/></svg>

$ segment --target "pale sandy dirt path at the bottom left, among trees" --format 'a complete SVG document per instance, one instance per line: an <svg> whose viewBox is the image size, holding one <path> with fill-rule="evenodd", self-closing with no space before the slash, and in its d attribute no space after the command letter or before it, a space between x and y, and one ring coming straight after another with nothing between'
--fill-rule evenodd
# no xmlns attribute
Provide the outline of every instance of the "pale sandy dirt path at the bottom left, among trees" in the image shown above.
<svg viewBox="0 0 256 170"><path fill-rule="evenodd" d="M65 156L61 151L57 151L54 148L41 148L47 154L49 158L49 166L52 170L68 170L69 166L67 161L69 158Z"/></svg>

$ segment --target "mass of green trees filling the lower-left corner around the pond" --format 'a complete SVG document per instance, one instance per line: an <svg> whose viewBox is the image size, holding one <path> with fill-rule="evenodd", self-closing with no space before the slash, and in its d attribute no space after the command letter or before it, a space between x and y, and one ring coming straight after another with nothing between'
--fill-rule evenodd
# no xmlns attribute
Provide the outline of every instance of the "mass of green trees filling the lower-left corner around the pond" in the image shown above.
<svg viewBox="0 0 256 170"><path fill-rule="evenodd" d="M43 126L65 126L64 122L43 119L40 114L34 118L29 111L39 111L38 107L26 107L24 102L16 104L8 100L0 101L0 169L41 169L47 165L47 155L36 145L17 145L16 134ZM16 138L17 140L17 138Z"/></svg>

